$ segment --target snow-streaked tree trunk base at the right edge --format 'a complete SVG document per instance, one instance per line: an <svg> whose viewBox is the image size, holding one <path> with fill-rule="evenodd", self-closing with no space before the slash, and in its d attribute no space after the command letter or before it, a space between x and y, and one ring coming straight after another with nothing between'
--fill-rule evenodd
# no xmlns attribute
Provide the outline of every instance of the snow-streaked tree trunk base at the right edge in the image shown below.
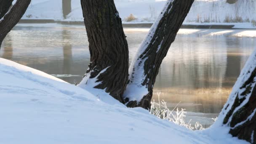
<svg viewBox="0 0 256 144"><path fill-rule="evenodd" d="M256 50L245 64L216 123L229 133L256 144Z"/></svg>

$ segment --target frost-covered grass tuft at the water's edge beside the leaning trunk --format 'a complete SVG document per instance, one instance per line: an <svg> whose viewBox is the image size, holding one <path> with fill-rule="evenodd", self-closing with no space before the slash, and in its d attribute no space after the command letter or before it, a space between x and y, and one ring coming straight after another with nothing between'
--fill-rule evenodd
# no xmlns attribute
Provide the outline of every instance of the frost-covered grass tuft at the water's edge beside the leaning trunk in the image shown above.
<svg viewBox="0 0 256 144"><path fill-rule="evenodd" d="M163 120L171 121L177 125L181 125L185 128L188 128L189 130L205 129L199 122L196 122L195 125L192 125L190 123L191 120L188 123L186 123L184 118L186 117L186 113L187 113L185 111L186 109L181 108L181 110L179 110L179 108L177 107L179 104L177 104L177 106L173 110L170 110L167 107L166 102L164 100L160 101L160 92L157 93L157 95L158 95L158 102L155 102L155 100L151 102L150 114L155 115Z"/></svg>

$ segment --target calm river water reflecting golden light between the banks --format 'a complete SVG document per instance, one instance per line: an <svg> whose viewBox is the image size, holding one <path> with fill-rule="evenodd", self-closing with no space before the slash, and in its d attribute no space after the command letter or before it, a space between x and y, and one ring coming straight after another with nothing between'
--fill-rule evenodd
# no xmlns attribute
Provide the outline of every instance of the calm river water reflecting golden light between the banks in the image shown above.
<svg viewBox="0 0 256 144"><path fill-rule="evenodd" d="M125 28L131 62L149 28ZM186 120L211 125L227 101L248 56L256 30L180 29L163 60L153 99L185 108ZM84 26L18 24L5 38L0 57L79 83L90 54Z"/></svg>

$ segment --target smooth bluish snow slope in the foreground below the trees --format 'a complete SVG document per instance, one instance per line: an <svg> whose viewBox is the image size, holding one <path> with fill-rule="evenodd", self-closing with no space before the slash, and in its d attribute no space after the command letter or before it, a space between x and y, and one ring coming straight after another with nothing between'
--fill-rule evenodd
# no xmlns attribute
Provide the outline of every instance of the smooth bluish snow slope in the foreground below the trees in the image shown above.
<svg viewBox="0 0 256 144"><path fill-rule="evenodd" d="M189 131L6 59L0 79L0 144L247 144L228 128Z"/></svg>

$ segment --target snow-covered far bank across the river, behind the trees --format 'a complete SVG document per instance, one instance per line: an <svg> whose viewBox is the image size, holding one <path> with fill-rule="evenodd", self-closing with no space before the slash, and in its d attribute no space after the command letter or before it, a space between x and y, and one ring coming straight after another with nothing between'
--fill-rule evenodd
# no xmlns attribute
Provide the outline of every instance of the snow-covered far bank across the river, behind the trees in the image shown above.
<svg viewBox="0 0 256 144"><path fill-rule="evenodd" d="M166 0L115 0L124 23L152 23L162 10ZM61 0L32 0L22 19L54 19L56 21L83 21L80 0L72 0L72 11L64 20ZM42 9L44 11L42 11ZM136 20L127 22L130 14ZM235 28L255 28L256 2L238 0L228 4L226 0L195 0L184 24L232 24ZM236 23L247 24L236 24Z"/></svg>

